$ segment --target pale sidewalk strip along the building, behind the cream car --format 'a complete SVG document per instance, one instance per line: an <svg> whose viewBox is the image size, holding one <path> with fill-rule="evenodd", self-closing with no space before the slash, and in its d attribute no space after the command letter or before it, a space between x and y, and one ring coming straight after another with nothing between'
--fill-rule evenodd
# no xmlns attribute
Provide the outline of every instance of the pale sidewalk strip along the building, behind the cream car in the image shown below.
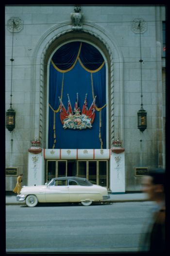
<svg viewBox="0 0 170 256"><path fill-rule="evenodd" d="M133 202L133 201L148 201L144 193L125 193L125 194L110 194L110 199L106 202ZM6 205L25 205L25 201L17 201L16 195L6 195Z"/></svg>

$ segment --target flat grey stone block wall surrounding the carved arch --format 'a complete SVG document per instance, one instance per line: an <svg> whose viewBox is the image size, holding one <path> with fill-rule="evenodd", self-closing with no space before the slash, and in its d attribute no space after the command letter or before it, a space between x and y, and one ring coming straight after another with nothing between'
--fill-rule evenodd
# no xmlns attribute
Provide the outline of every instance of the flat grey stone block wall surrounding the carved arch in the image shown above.
<svg viewBox="0 0 170 256"><path fill-rule="evenodd" d="M114 135L120 135L125 148L126 190L139 190L140 178L134 175L136 166L165 165L165 79L163 81L161 63L162 21L166 19L166 7L85 5L81 7L81 11L84 14L84 23L90 26L91 34L97 27L98 31L101 31L100 37L104 35L108 40L113 39L115 53L121 56L118 59L115 55L112 60ZM47 40L48 32L52 31L54 26L61 24L61 33L63 24L67 24L71 29L71 12L74 12L73 5L5 7L6 110L10 107L12 54L12 33L8 30L8 20L17 17L23 21L22 29L14 33L12 107L16 110L16 128L11 133L6 129L6 167L19 167L19 172L24 173L25 184L28 176L28 148L33 137L39 136L40 129L42 76L36 70L39 69L41 56L34 61L34 50L42 40ZM141 53L144 61L143 108L147 110L147 129L143 133L137 129L141 79L139 34L132 29L133 20L136 18L142 18L147 24L146 31L141 34ZM55 36L55 30L51 33ZM44 97L45 101L45 93ZM43 126L45 132L46 124ZM110 146L111 137L108 137ZM44 135L43 147L46 146L45 138ZM13 178L6 177L7 190L12 190L15 183L12 183L11 179Z"/></svg>

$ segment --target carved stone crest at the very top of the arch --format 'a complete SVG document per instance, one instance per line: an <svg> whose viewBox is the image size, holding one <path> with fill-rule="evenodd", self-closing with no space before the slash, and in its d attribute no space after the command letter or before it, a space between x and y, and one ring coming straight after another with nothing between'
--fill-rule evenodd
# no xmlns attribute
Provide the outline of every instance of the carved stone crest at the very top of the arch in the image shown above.
<svg viewBox="0 0 170 256"><path fill-rule="evenodd" d="M83 22L83 13L81 13L81 7L75 6L74 13L71 13L70 17L71 17L72 29L81 30L82 22Z"/></svg>

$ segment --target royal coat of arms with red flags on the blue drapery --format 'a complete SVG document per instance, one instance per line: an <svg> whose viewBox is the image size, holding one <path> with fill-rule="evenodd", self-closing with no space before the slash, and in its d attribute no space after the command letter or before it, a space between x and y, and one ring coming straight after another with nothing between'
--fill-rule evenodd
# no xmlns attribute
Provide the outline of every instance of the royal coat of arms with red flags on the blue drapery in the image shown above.
<svg viewBox="0 0 170 256"><path fill-rule="evenodd" d="M87 93L85 94L85 101L82 111L78 107L78 93L74 106L74 111L71 107L71 102L68 95L68 110L66 110L61 98L60 100L60 120L64 129L85 129L92 128L92 123L95 119L95 100L94 98L89 110L87 108Z"/></svg>

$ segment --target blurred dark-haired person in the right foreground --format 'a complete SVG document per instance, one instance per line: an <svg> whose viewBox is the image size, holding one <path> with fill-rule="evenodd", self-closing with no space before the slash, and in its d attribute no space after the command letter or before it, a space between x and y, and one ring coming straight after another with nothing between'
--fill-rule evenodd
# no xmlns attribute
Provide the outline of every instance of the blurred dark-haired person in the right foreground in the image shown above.
<svg viewBox="0 0 170 256"><path fill-rule="evenodd" d="M145 235L140 239L141 251L150 253L165 252L165 170L153 169L142 177L142 190L148 200L155 202L152 218L148 219ZM146 226L144 227L146 228Z"/></svg>

